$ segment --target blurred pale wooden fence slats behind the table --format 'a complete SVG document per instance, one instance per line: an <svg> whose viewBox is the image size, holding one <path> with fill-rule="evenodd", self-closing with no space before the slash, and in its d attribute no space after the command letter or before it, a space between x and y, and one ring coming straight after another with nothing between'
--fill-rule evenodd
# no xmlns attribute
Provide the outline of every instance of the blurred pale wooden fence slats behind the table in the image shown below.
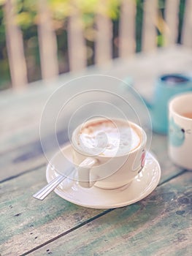
<svg viewBox="0 0 192 256"><path fill-rule="evenodd" d="M41 61L42 79L58 75L58 56L55 31L51 20L47 0L38 1L39 23L38 39ZM128 58L136 51L135 20L137 15L136 0L120 1L119 22L119 56ZM7 0L4 4L6 20L7 53L15 89L27 86L26 58L23 50L23 39L20 28L15 24L15 1ZM166 0L165 18L161 19L161 33L164 35L164 46L177 42L178 12L180 0ZM192 47L192 0L185 0L185 14L181 42ZM157 48L156 36L159 24L158 0L145 0L142 24L142 50ZM161 18L161 17L160 17ZM95 17L95 63L105 64L112 59L112 21L107 16L98 14ZM85 37L80 12L76 10L68 20L68 55L70 71L78 71L86 67Z"/></svg>

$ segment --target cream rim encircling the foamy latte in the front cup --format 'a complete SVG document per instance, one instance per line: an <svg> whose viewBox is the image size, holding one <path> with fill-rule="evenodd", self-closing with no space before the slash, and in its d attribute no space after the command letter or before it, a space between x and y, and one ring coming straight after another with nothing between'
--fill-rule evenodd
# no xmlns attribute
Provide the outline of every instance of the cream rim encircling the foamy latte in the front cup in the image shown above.
<svg viewBox="0 0 192 256"><path fill-rule="evenodd" d="M89 120L89 121L87 121L87 122L91 122L91 121L93 121L93 120L101 120L101 119L104 119L104 118L93 118L93 119L91 119L91 120ZM72 143L72 147L74 148L74 150L75 151L77 151L78 153L80 153L80 154L82 154L82 155L84 155L85 157L101 157L102 159L104 159L104 158L107 158L107 159L110 159L110 158L118 158L118 157L126 157L127 155L129 155L129 154L134 154L135 152L137 152L137 151L139 151L140 150L140 148L142 148L143 146L145 146L145 144L147 143L147 135L146 135L146 132L145 132L145 130L144 129L142 129L142 127L139 127L139 125L138 124L135 124L134 122L132 122L132 121L129 121L129 120L125 120L125 119L123 119L123 118L111 118L112 120L117 120L117 121L128 121L128 123L129 124L131 124L131 125L133 125L134 127L137 127L137 129L139 129L139 131L141 132L141 135L142 135L142 140L140 141L140 144L139 144L139 146L137 146L136 148L134 148L133 150L131 150L131 151L128 151L126 154L120 154L120 155L115 155L115 156L104 156L104 155L94 155L94 154L88 154L88 153L86 153L85 151L81 151L80 150L80 148L77 148L77 143L76 143L76 145L75 145L75 143L74 143L74 134L75 134L75 132L77 132L77 129L79 129L80 128L80 126L82 125L82 124L80 124L80 125L78 125L78 127L76 127L76 129L74 129L74 132L72 133L72 140L71 140L71 143Z"/></svg>

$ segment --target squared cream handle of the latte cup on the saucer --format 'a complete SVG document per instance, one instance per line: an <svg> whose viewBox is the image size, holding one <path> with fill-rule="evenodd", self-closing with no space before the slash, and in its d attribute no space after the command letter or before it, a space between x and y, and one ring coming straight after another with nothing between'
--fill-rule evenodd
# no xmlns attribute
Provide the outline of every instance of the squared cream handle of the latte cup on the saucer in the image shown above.
<svg viewBox="0 0 192 256"><path fill-rule="evenodd" d="M77 168L78 181L81 187L91 188L96 181L91 181L91 167L95 165L97 160L92 157L87 157L82 161Z"/></svg>

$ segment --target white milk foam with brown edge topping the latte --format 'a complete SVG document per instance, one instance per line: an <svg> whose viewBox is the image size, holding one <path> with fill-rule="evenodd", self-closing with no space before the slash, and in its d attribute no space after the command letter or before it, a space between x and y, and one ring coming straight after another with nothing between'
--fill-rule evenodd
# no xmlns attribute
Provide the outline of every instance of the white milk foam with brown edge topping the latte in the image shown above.
<svg viewBox="0 0 192 256"><path fill-rule="evenodd" d="M82 151L113 157L126 154L140 144L140 138L126 121L93 121L85 125L78 135Z"/></svg>

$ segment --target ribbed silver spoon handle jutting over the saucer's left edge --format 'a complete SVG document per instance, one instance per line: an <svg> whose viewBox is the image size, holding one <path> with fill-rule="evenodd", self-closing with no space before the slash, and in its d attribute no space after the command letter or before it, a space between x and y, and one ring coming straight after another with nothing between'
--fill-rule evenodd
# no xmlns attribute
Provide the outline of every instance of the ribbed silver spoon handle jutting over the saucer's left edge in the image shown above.
<svg viewBox="0 0 192 256"><path fill-rule="evenodd" d="M48 183L45 187L40 189L37 193L33 195L33 197L39 199L39 200L44 200L47 195L50 194L58 185L64 181L66 176L59 175L53 179L50 183Z"/></svg>

